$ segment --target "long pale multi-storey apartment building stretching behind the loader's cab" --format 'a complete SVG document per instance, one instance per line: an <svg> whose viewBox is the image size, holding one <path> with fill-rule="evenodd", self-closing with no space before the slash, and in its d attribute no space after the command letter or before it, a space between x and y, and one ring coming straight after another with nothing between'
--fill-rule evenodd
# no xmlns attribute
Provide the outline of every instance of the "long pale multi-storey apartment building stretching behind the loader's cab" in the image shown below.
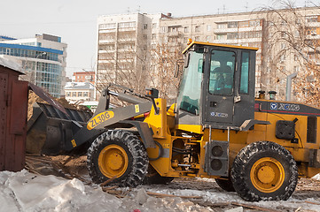
<svg viewBox="0 0 320 212"><path fill-rule="evenodd" d="M156 72L151 56L157 44L179 44L185 48L191 38L199 42L259 48L256 57L256 92L274 90L279 99L285 100L287 76L303 72L299 59L301 55L297 54L293 45L299 42L298 37L302 35L306 37L300 42L320 39L320 9L310 7L181 18L173 18L171 14L139 13L103 16L98 19L98 34L98 79L103 79L104 73L110 72L108 80L117 82L117 66L121 66L121 58L125 57L123 49L142 48L143 51L131 56L136 63L136 70ZM127 40L123 40L123 37ZM308 57L312 49L303 48L301 51ZM109 53L112 57L107 57Z"/></svg>

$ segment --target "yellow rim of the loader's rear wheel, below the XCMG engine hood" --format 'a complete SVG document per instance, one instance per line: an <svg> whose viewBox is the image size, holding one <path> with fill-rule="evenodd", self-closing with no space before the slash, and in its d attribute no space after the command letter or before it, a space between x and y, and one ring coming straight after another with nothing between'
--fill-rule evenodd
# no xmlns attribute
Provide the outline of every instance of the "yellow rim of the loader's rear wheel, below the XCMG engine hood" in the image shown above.
<svg viewBox="0 0 320 212"><path fill-rule="evenodd" d="M285 181L285 169L272 157L263 157L256 161L250 171L251 182L262 193L273 193Z"/></svg>

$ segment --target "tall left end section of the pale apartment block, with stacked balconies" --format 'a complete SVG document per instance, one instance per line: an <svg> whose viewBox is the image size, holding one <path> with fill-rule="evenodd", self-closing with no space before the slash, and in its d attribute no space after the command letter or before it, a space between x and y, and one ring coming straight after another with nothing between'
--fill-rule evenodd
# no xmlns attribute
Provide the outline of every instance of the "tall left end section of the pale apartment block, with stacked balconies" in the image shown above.
<svg viewBox="0 0 320 212"><path fill-rule="evenodd" d="M99 92L110 82L126 84L141 91L149 67L152 34L164 14L124 14L98 17Z"/></svg>

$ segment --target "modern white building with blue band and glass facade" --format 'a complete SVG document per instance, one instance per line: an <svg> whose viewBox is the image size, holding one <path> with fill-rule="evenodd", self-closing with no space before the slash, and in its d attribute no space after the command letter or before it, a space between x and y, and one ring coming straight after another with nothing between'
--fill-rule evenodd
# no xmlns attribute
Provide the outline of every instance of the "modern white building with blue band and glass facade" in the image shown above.
<svg viewBox="0 0 320 212"><path fill-rule="evenodd" d="M23 79L43 87L54 97L64 95L66 47L61 37L51 34L35 34L27 39L0 36L0 57L20 64L26 73Z"/></svg>

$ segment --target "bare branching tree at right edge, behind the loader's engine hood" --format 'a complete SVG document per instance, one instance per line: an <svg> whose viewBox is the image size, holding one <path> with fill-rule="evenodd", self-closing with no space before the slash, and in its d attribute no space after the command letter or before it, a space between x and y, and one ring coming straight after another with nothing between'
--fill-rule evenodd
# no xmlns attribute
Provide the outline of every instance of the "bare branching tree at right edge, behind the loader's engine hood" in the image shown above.
<svg viewBox="0 0 320 212"><path fill-rule="evenodd" d="M317 15L306 15L320 11L320 8L297 8L290 0L275 1L265 8L267 28L265 30L265 56L269 89L279 91L280 99L285 96L285 79L293 73L293 94L299 102L320 106L319 81L319 39L320 22ZM308 12L306 12L308 10ZM315 23L315 24L313 24Z"/></svg>

